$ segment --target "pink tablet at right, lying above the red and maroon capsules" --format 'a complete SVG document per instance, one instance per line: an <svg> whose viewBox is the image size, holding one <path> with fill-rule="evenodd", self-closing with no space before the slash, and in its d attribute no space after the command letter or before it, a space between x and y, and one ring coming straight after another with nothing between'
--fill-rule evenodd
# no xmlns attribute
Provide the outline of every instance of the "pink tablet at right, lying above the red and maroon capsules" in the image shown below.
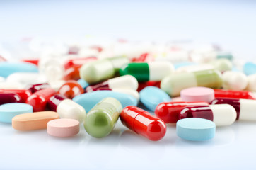
<svg viewBox="0 0 256 170"><path fill-rule="evenodd" d="M191 87L180 91L182 101L205 101L210 103L214 100L214 90L207 87Z"/></svg>

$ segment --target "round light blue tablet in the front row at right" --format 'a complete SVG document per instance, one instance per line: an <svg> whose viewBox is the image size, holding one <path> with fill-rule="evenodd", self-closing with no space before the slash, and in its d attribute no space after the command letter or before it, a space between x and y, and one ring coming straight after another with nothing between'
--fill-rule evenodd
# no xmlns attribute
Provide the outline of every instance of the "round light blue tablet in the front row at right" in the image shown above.
<svg viewBox="0 0 256 170"><path fill-rule="evenodd" d="M176 133L185 140L204 141L214 137L216 125L203 118L185 118L178 120Z"/></svg>

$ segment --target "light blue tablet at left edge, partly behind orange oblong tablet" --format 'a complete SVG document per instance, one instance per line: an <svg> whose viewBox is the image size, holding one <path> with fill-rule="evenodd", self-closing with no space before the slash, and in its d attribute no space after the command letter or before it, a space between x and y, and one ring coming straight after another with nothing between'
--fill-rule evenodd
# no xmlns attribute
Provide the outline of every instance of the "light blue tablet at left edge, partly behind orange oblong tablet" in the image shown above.
<svg viewBox="0 0 256 170"><path fill-rule="evenodd" d="M7 103L0 106L0 122L11 123L11 119L22 113L33 113L33 107L26 103Z"/></svg>

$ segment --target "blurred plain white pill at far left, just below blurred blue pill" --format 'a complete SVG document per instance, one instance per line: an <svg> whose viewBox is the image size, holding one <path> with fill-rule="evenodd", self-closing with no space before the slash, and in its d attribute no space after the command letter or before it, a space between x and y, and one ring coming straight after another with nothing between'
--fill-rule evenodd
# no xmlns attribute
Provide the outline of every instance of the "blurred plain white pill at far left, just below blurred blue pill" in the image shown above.
<svg viewBox="0 0 256 170"><path fill-rule="evenodd" d="M18 82L25 87L30 84L44 83L47 80L45 79L44 76L42 76L37 72L16 72L16 73L10 74L6 78L6 81L13 82L13 83Z"/></svg>

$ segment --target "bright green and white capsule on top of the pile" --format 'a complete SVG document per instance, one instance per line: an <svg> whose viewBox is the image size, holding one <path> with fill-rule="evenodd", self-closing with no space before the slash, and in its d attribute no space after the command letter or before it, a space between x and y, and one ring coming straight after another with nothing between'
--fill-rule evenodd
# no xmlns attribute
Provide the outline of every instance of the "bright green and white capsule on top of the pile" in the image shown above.
<svg viewBox="0 0 256 170"><path fill-rule="evenodd" d="M120 75L130 74L139 82L161 81L174 72L173 64L170 62L140 62L124 64L120 69Z"/></svg>

